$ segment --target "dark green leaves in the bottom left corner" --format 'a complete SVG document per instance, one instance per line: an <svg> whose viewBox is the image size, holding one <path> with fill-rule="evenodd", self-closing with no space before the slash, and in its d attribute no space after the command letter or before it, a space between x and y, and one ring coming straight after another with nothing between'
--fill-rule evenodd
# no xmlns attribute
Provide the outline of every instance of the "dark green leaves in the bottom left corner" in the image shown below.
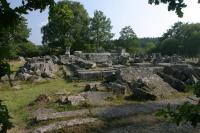
<svg viewBox="0 0 200 133"><path fill-rule="evenodd" d="M6 105L2 104L0 100L0 133L6 133L8 129L13 127L12 122L10 121L10 115Z"/></svg>

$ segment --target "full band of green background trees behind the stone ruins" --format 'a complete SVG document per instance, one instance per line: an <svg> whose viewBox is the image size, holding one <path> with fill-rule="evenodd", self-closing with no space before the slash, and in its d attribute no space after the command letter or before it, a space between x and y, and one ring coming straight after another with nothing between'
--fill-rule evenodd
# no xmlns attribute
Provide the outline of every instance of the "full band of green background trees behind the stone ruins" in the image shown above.
<svg viewBox="0 0 200 133"><path fill-rule="evenodd" d="M177 22L159 38L138 38L131 26L125 26L120 37L113 39L111 30L111 20L102 11L96 10L93 17L89 17L81 3L63 0L49 7L48 23L41 28L43 45L28 40L31 29L27 20L20 16L15 26L0 29L0 56L56 55L63 54L66 47L71 47L72 53L111 52L124 48L130 53L199 56L199 23Z"/></svg>

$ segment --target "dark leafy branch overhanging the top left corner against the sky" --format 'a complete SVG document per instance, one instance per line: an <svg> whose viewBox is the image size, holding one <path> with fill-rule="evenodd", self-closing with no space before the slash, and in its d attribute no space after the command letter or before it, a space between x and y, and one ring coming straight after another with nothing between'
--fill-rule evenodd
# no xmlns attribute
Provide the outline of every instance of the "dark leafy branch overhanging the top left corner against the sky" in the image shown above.
<svg viewBox="0 0 200 133"><path fill-rule="evenodd" d="M17 7L12 7L8 0L1 0L0 29L14 27L22 14L28 14L33 10L43 11L49 5L54 5L54 0L21 0L21 4Z"/></svg>

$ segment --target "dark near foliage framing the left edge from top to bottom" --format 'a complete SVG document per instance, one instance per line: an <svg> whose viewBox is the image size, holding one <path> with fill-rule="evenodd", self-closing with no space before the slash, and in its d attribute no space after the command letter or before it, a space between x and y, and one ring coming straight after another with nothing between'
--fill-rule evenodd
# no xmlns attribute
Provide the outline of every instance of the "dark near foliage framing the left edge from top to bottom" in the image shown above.
<svg viewBox="0 0 200 133"><path fill-rule="evenodd" d="M22 5L11 8L7 0L0 1L0 77L10 74L10 65L4 60L9 55L9 48L6 45L10 41L9 35L13 33L16 25L20 24L21 15L27 14L28 11L40 9L44 10L46 6L53 5L54 0L22 0ZM19 32L21 33L21 32ZM5 36L6 39L5 40ZM8 38L7 38L8 37ZM12 38L13 39L13 38ZM18 38L15 38L18 39ZM6 105L0 101L0 132L6 133L13 125L10 122L10 116Z"/></svg>

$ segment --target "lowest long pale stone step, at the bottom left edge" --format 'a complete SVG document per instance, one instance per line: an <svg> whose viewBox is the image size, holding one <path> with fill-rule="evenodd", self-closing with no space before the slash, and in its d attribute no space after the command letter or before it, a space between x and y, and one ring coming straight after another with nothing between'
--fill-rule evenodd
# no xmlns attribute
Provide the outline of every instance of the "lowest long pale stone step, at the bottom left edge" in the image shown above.
<svg viewBox="0 0 200 133"><path fill-rule="evenodd" d="M51 132L54 130L59 130L64 127L73 127L81 124L87 124L97 121L97 118L78 118L68 121L59 121L52 124L49 124L47 126L40 127L33 131L33 133L45 133L45 132Z"/></svg>

